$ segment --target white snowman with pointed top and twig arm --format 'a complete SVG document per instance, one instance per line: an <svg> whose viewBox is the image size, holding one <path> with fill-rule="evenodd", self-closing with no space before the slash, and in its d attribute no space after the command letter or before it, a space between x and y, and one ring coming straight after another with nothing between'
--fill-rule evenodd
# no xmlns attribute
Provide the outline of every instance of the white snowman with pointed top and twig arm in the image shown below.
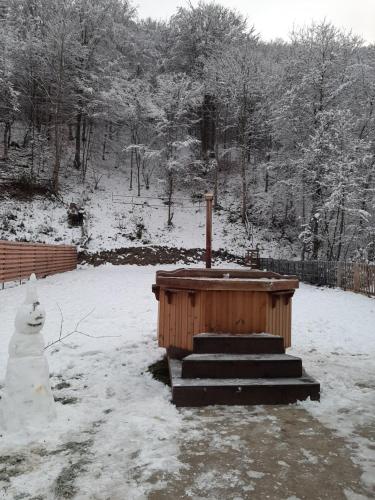
<svg viewBox="0 0 375 500"><path fill-rule="evenodd" d="M39 303L36 277L32 274L9 343L2 409L5 428L10 431L41 427L56 416L40 333L44 321L45 311Z"/></svg>

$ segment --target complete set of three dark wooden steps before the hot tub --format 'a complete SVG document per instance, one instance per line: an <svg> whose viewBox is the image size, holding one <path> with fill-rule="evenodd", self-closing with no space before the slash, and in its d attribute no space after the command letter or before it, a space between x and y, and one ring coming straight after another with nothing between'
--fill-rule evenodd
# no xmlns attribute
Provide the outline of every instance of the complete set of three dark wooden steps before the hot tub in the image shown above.
<svg viewBox="0 0 375 500"><path fill-rule="evenodd" d="M319 400L319 383L303 371L300 358L284 353L282 340L268 334L196 335L194 354L182 361L168 358L173 403L208 406Z"/></svg>

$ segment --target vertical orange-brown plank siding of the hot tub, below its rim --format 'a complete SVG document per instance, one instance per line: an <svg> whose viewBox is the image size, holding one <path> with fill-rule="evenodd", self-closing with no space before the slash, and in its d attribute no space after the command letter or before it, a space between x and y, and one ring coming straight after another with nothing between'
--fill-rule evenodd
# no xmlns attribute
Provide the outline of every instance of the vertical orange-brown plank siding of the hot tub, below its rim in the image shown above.
<svg viewBox="0 0 375 500"><path fill-rule="evenodd" d="M269 332L281 335L285 347L290 347L290 308L291 301L286 305L283 296L276 299L272 308L272 298L268 293L228 290L198 292L194 306L188 293L181 290L172 294L168 304L167 296L161 290L159 345L192 350L196 333Z"/></svg>

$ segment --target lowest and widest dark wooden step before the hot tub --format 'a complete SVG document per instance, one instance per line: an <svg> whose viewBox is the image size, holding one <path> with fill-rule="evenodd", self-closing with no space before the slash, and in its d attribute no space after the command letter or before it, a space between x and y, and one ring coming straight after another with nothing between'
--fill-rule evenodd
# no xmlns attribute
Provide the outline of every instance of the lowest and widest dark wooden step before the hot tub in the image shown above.
<svg viewBox="0 0 375 500"><path fill-rule="evenodd" d="M289 404L319 401L320 385L303 372L299 378L188 379L182 363L169 358L172 401L176 406Z"/></svg>

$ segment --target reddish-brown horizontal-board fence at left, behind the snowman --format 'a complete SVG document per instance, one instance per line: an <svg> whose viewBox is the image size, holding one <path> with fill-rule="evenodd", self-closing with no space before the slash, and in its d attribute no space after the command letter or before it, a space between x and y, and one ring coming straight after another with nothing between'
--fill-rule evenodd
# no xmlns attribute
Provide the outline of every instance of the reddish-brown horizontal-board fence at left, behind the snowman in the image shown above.
<svg viewBox="0 0 375 500"><path fill-rule="evenodd" d="M71 245L45 245L0 240L0 283L72 271L77 267L77 249Z"/></svg>

